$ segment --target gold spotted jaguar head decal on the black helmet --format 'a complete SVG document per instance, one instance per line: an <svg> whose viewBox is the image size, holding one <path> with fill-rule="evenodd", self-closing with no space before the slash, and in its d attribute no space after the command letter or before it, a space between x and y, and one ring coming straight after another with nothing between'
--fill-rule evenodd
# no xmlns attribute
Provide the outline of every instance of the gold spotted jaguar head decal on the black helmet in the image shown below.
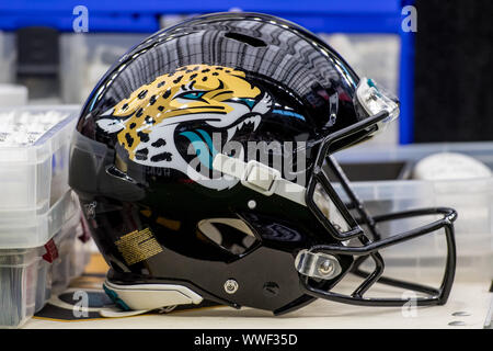
<svg viewBox="0 0 493 351"><path fill-rule="evenodd" d="M221 148L245 127L255 132L272 104L270 94L249 82L241 70L190 65L141 86L96 123L106 133L117 133L130 160L176 169L207 188L221 190L238 180L204 179L190 165L183 144L193 147L199 162L209 169L218 152L213 135L220 136ZM182 146L177 147L180 137Z"/></svg>

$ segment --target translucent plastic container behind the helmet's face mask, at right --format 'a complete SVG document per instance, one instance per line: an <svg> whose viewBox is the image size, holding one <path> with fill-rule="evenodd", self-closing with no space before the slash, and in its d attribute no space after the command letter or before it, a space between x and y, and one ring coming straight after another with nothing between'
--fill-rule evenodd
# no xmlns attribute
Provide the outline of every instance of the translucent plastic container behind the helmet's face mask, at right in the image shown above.
<svg viewBox="0 0 493 351"><path fill-rule="evenodd" d="M457 274L493 279L493 178L465 180L413 180L410 174L422 158L436 152L460 152L493 169L493 143L421 144L395 147L354 147L335 155L346 169L352 188L372 214L420 207L445 206L458 212L455 223ZM392 174L393 173L393 174ZM354 181L354 179L371 181ZM387 179L378 181L378 178ZM392 179L393 178L393 179ZM337 192L347 200L341 188ZM433 220L433 217L380 225L383 237ZM387 271L410 268L414 278L443 272L446 242L443 231L383 250ZM395 271L399 272L399 271Z"/></svg>

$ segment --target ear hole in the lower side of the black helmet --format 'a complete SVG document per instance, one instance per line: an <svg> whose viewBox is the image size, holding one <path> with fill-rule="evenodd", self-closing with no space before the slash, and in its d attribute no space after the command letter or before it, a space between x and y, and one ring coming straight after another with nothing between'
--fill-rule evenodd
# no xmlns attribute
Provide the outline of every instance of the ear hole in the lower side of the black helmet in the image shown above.
<svg viewBox="0 0 493 351"><path fill-rule="evenodd" d="M250 227L238 218L203 219L197 229L211 244L233 254L242 254L259 242Z"/></svg>

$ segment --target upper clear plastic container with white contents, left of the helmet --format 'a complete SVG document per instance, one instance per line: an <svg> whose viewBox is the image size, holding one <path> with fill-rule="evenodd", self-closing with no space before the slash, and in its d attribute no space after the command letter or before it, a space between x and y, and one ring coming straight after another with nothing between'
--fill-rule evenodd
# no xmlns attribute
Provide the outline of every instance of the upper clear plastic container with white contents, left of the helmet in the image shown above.
<svg viewBox="0 0 493 351"><path fill-rule="evenodd" d="M78 111L0 109L0 249L44 245L77 210L67 180Z"/></svg>

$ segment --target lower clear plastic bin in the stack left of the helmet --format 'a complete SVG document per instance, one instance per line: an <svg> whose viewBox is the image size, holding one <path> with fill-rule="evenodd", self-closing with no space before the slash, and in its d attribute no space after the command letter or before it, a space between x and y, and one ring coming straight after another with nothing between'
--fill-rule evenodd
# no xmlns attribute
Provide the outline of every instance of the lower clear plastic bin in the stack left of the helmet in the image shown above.
<svg viewBox="0 0 493 351"><path fill-rule="evenodd" d="M0 250L0 328L22 326L51 293L64 291L83 272L91 253L89 244L79 242L81 230L78 212L53 238L58 250L53 262L43 258L45 246Z"/></svg>

